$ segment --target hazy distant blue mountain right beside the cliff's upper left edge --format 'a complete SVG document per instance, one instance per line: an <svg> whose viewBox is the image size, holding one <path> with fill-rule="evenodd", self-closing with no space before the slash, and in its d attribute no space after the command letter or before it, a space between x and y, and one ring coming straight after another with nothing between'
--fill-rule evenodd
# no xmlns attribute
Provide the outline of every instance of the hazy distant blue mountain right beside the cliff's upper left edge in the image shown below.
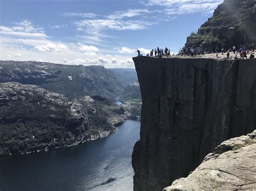
<svg viewBox="0 0 256 191"><path fill-rule="evenodd" d="M111 68L107 69L117 76L117 79L124 87L130 86L133 82L138 81L137 73L132 68Z"/></svg>

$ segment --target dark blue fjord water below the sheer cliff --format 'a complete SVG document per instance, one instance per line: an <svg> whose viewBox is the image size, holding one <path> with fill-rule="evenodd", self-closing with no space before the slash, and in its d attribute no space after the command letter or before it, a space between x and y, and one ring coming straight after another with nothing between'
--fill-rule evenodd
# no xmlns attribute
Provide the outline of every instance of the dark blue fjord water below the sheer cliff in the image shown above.
<svg viewBox="0 0 256 191"><path fill-rule="evenodd" d="M0 190L132 190L140 122L79 146L0 159Z"/></svg>

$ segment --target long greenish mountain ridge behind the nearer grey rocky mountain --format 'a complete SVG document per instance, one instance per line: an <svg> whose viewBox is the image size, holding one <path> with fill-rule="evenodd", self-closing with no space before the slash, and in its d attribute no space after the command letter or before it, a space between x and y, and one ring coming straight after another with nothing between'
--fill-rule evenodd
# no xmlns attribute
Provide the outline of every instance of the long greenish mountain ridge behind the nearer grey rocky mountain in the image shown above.
<svg viewBox="0 0 256 191"><path fill-rule="evenodd" d="M86 95L112 98L124 89L116 75L103 66L35 61L0 61L0 83L3 82L33 84L69 98Z"/></svg>

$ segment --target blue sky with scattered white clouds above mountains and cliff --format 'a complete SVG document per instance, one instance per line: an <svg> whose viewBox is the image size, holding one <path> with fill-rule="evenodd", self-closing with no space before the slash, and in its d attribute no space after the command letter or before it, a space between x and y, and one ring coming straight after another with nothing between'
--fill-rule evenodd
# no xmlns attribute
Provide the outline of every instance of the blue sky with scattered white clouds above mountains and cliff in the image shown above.
<svg viewBox="0 0 256 191"><path fill-rule="evenodd" d="M0 0L0 60L134 68L143 55L178 53L223 0Z"/></svg>

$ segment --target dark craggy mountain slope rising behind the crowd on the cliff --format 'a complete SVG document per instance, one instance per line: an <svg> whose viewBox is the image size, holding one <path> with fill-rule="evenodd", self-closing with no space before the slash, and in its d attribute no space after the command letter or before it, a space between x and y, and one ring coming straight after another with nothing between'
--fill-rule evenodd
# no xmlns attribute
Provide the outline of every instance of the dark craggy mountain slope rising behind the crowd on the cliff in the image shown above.
<svg viewBox="0 0 256 191"><path fill-rule="evenodd" d="M255 3L255 0L225 0L197 33L187 37L185 46L202 46L213 52L215 47L228 49L256 44Z"/></svg>

